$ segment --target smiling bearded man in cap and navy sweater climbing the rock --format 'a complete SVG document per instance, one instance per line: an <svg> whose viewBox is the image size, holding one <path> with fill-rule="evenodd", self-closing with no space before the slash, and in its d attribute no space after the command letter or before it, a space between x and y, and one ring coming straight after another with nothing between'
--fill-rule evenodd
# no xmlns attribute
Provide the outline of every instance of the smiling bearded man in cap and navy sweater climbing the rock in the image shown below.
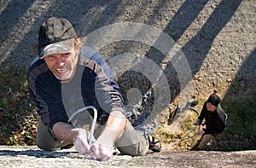
<svg viewBox="0 0 256 168"><path fill-rule="evenodd" d="M53 150L74 144L79 154L99 160L111 158L113 145L132 156L144 155L148 149L160 152L160 142L135 130L126 119L113 71L99 53L84 46L68 20L45 20L38 43L39 56L32 61L27 76L41 117L38 148ZM76 127L73 120L69 122L70 114L87 106L96 107L97 121L107 118L91 145L90 131Z"/></svg>

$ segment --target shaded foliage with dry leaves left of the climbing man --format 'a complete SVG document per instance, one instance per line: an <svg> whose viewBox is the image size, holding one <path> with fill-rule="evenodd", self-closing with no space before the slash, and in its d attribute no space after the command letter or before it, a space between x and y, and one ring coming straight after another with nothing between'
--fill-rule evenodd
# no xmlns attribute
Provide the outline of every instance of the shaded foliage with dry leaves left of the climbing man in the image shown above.
<svg viewBox="0 0 256 168"><path fill-rule="evenodd" d="M0 145L33 145L38 114L30 101L26 69L0 72Z"/></svg>

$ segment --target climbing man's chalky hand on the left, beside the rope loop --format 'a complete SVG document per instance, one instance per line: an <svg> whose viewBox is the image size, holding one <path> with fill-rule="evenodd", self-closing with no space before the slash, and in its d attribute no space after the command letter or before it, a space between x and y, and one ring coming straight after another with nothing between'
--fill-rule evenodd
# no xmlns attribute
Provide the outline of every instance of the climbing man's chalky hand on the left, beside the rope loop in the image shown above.
<svg viewBox="0 0 256 168"><path fill-rule="evenodd" d="M87 130L76 128L78 134L75 138L75 149L79 152L79 154L88 154L90 150L90 145L88 144L88 139L90 137L90 133Z"/></svg>

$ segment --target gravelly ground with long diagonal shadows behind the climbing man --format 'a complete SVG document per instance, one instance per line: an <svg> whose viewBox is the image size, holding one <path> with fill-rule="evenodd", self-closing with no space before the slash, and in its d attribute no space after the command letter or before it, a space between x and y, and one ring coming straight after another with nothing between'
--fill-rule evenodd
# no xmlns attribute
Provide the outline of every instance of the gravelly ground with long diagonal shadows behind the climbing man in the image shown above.
<svg viewBox="0 0 256 168"><path fill-rule="evenodd" d="M152 90L152 111L161 124L169 113L168 103L176 100L184 105L191 96L206 98L213 90L224 100L247 101L255 95L254 0L0 4L0 72L29 66L37 55L39 27L54 15L70 20L79 38L108 61L125 104L129 90L141 95Z"/></svg>

